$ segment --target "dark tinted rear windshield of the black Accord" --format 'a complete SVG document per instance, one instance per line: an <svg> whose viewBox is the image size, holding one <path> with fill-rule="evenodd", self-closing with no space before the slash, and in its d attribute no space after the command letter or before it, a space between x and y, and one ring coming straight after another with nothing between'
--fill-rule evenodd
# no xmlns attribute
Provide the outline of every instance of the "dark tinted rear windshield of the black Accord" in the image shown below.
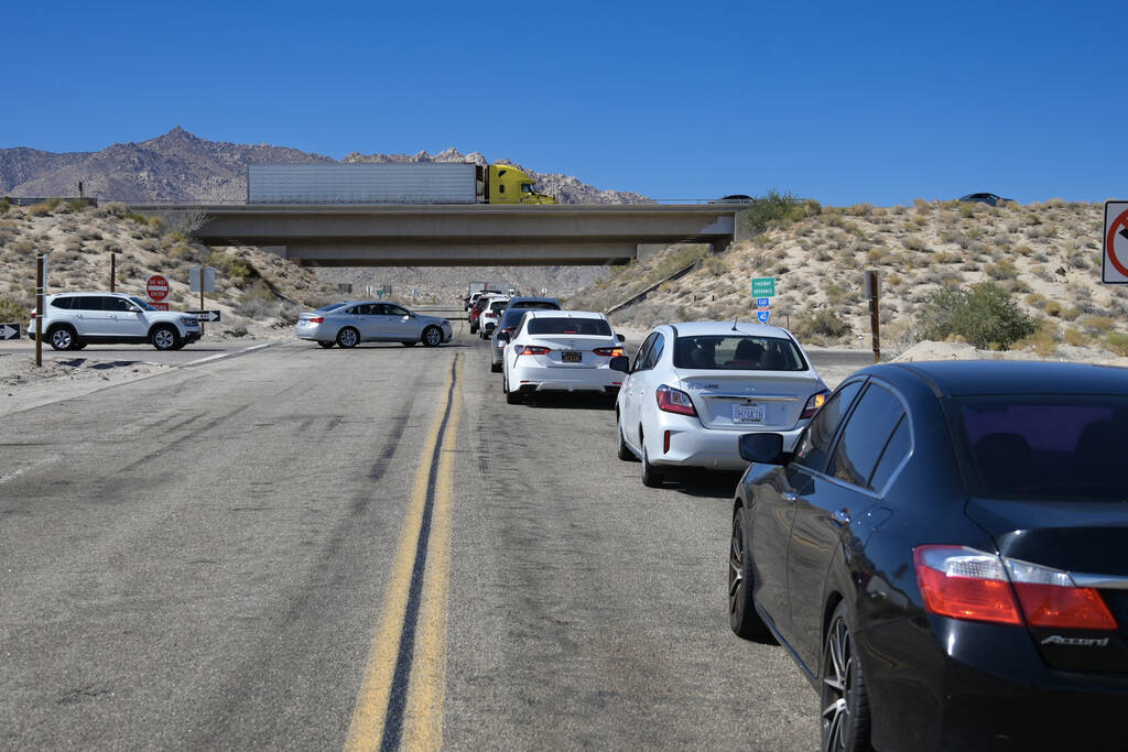
<svg viewBox="0 0 1128 752"><path fill-rule="evenodd" d="M973 494L1128 501L1128 397L1013 396L954 400L962 471Z"/></svg>

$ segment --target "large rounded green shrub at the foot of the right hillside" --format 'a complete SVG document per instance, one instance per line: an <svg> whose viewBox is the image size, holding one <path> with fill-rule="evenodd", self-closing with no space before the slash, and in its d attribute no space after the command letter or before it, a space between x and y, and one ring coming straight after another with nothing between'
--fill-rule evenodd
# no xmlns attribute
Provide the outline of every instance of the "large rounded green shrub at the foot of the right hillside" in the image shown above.
<svg viewBox="0 0 1128 752"><path fill-rule="evenodd" d="M1010 347L1037 329L1038 325L1019 309L1010 293L992 282L934 290L917 316L923 338L958 336L980 350L992 345Z"/></svg>

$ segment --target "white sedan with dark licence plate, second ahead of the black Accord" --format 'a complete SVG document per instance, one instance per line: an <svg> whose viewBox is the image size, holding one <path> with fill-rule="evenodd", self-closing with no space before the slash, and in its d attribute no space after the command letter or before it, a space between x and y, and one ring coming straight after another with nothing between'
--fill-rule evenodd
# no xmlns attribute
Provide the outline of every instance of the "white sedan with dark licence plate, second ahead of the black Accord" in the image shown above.
<svg viewBox="0 0 1128 752"><path fill-rule="evenodd" d="M623 355L623 336L602 313L531 310L517 331L497 336L506 343L502 389L510 405L537 391L614 393L623 383L610 368Z"/></svg>

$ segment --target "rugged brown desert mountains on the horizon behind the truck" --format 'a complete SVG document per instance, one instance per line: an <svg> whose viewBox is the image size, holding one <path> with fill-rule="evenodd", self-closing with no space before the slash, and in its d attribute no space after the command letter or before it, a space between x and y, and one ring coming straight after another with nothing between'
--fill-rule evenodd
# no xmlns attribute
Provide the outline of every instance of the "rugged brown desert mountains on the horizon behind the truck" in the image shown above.
<svg viewBox="0 0 1128 752"><path fill-rule="evenodd" d="M208 141L180 126L140 143L115 143L102 151L55 153L36 149L0 149L0 196L77 196L79 180L87 196L125 202L239 202L247 195L247 166L255 163L332 163L324 154L273 147ZM486 163L478 152L447 149L438 154L361 154L343 162ZM511 162L508 159L493 161ZM601 191L563 174L526 169L538 188L561 203L638 204L637 193Z"/></svg>

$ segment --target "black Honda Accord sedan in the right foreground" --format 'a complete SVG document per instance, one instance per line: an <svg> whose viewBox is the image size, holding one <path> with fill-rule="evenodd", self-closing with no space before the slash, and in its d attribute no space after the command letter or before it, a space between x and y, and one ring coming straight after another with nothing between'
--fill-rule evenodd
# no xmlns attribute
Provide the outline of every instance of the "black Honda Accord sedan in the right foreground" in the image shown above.
<svg viewBox="0 0 1128 752"><path fill-rule="evenodd" d="M826 750L1128 749L1128 370L885 364L747 434L729 611Z"/></svg>

